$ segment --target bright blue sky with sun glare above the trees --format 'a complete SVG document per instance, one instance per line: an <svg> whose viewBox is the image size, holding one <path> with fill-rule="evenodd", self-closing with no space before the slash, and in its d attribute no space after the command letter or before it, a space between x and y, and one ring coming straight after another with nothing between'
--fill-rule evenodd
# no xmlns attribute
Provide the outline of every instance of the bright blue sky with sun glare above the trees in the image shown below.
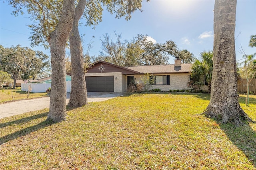
<svg viewBox="0 0 256 170"><path fill-rule="evenodd" d="M137 34L147 34L158 43L172 40L179 49L188 49L196 57L204 50L213 49L214 0L151 0L142 3L142 10L134 12L130 21L116 19L115 15L104 11L103 21L95 30L81 26L80 34L85 34L84 50L87 50L87 44L92 40L89 55L97 56L101 51L99 38L108 33L115 40L114 31L122 34L122 40L131 40ZM11 12L12 7L0 1L0 44L4 47L18 44L30 47L30 30L27 25L31 21L26 14L15 17ZM238 0L235 35L238 34L236 58L240 60L240 45L247 54L256 52L256 48L248 47L250 36L256 34L256 0ZM44 51L50 56L50 50L43 47L32 49ZM170 57L169 63L174 63L173 60Z"/></svg>

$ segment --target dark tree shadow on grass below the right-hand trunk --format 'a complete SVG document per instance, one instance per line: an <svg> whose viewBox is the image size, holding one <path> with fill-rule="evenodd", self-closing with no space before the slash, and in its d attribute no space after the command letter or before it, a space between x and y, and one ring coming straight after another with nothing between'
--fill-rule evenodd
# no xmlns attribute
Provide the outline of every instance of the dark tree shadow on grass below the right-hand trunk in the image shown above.
<svg viewBox="0 0 256 170"><path fill-rule="evenodd" d="M220 124L229 140L242 150L248 160L256 167L256 132L249 124L236 127L232 124Z"/></svg>

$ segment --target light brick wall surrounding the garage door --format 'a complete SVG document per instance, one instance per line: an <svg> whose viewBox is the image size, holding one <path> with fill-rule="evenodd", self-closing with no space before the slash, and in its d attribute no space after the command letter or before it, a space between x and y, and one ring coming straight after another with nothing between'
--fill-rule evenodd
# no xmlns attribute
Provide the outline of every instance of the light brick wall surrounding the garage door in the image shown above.
<svg viewBox="0 0 256 170"><path fill-rule="evenodd" d="M113 72L113 73L86 73L85 77L91 76L114 76L114 92L122 93L123 90L123 75L121 72ZM115 79L116 78L116 79Z"/></svg>

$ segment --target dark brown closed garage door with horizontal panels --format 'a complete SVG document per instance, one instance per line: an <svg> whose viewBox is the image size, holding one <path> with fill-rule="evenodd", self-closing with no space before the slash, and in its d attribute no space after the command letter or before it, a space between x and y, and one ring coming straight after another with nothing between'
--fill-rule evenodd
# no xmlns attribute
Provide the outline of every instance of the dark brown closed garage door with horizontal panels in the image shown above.
<svg viewBox="0 0 256 170"><path fill-rule="evenodd" d="M87 91L114 92L114 76L85 77Z"/></svg>

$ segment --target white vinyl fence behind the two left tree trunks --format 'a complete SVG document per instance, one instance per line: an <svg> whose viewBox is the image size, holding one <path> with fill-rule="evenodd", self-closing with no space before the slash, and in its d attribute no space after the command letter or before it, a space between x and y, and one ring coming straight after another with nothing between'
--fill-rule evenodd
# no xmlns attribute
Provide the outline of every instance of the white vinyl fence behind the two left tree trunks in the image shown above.
<svg viewBox="0 0 256 170"><path fill-rule="evenodd" d="M31 85L32 90L30 92L33 93L44 93L46 92L46 89L48 89L48 87L51 87L50 83L22 83L21 84L21 91L28 91L28 86ZM67 89L67 93L69 93L71 91L71 81L66 81L66 89Z"/></svg>

